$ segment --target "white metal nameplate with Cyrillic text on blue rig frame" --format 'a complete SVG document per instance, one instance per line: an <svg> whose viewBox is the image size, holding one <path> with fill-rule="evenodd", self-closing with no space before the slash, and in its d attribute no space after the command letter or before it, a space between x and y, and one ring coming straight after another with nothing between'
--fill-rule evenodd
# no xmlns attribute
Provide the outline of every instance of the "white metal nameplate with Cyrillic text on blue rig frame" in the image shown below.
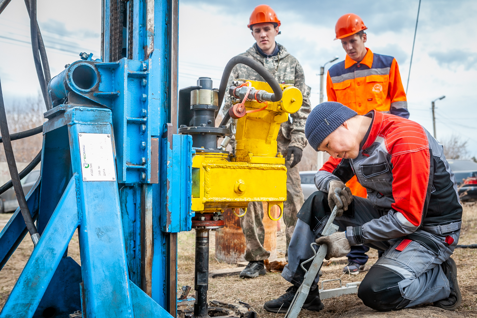
<svg viewBox="0 0 477 318"><path fill-rule="evenodd" d="M113 144L107 133L78 133L83 181L116 181Z"/></svg>

